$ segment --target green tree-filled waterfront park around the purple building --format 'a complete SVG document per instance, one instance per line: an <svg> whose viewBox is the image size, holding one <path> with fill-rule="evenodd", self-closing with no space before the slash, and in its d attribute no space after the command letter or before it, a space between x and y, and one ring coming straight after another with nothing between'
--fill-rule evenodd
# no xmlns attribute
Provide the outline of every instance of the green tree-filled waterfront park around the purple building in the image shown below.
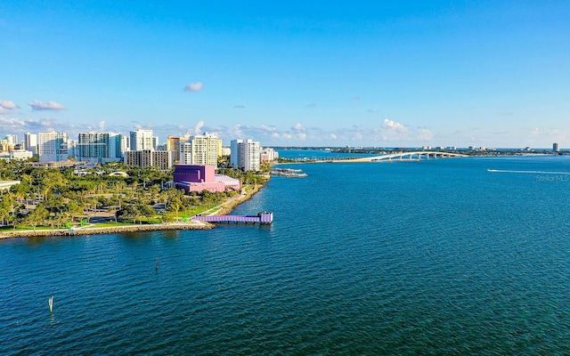
<svg viewBox="0 0 570 356"><path fill-rule="evenodd" d="M172 187L174 169L161 171L156 166L141 168L120 162L59 168L31 163L0 161L0 181L20 182L0 190L2 237L102 233L105 229L209 228L208 223L191 218L198 214L227 214L265 183L270 169L268 164L259 172L219 169L240 179L241 190L189 193ZM224 156L218 166L228 163L229 157Z"/></svg>

